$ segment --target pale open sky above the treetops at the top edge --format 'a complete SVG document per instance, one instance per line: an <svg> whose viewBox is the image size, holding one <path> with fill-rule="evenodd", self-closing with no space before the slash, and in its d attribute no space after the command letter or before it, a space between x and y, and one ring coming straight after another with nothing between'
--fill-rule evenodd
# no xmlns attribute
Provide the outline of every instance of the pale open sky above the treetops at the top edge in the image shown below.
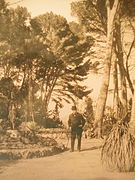
<svg viewBox="0 0 135 180"><path fill-rule="evenodd" d="M70 15L70 3L73 1L75 0L6 0L9 3L18 2L13 7L17 5L27 7L32 16L52 11L66 17L68 21L75 19Z"/></svg>

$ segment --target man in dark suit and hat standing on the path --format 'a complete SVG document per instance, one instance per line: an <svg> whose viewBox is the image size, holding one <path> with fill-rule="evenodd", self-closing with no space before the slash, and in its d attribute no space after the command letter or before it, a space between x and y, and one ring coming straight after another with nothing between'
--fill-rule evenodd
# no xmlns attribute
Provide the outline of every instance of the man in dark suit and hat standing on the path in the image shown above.
<svg viewBox="0 0 135 180"><path fill-rule="evenodd" d="M78 151L81 150L81 137L83 132L83 126L85 124L85 119L83 116L77 112L76 106L72 106L72 114L69 115L68 125L71 129L71 152L74 151L75 139L78 139Z"/></svg>

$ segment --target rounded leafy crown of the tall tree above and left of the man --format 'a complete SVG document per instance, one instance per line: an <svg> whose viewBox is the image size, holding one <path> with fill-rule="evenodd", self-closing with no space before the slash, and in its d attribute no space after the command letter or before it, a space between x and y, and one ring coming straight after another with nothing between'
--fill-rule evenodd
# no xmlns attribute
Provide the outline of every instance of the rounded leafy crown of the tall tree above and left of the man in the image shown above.
<svg viewBox="0 0 135 180"><path fill-rule="evenodd" d="M51 67L55 67L53 71L52 68L50 69L50 75L56 75L58 78L57 87L59 88L56 88L57 93L63 94L65 90L66 92L72 91L71 93L73 93L73 90L69 88L69 84L83 80L91 66L90 60L84 63L84 57L93 44L92 38L80 38L77 33L75 34L71 31L64 17L55 15L52 12L32 19L31 25L33 29L36 27L36 29L34 29L35 33L43 38L49 50L48 55L46 54L48 58L43 58L44 60L42 59L42 61L40 61L42 66L40 66L37 73L45 75L45 67L49 68L47 66L50 65ZM51 79L48 83L52 84ZM64 90L61 91L60 86L63 87ZM78 97L79 96L80 95L78 95Z"/></svg>

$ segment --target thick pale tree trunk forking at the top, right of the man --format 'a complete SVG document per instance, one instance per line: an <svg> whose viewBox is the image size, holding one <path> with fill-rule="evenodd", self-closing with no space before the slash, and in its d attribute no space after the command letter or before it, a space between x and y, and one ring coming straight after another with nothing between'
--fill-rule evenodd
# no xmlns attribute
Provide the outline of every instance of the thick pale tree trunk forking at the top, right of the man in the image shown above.
<svg viewBox="0 0 135 180"><path fill-rule="evenodd" d="M104 61L104 74L103 81L100 89L100 94L97 101L97 108L95 113L95 123L98 127L97 134L98 137L102 136L101 128L102 128L102 118L104 114L109 80L110 80L110 68L111 68L111 58L112 58L112 46L113 46L113 27L115 16L117 15L117 10L119 6L119 0L115 0L113 7L110 6L110 1L107 0L107 47L106 47L106 58Z"/></svg>

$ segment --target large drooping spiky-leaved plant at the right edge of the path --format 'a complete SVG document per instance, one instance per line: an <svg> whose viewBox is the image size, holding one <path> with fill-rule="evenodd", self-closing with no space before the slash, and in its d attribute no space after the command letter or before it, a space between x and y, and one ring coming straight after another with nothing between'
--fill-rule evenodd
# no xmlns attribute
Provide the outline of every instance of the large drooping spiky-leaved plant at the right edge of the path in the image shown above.
<svg viewBox="0 0 135 180"><path fill-rule="evenodd" d="M135 138L128 123L115 124L102 147L103 166L120 172L135 170Z"/></svg>

